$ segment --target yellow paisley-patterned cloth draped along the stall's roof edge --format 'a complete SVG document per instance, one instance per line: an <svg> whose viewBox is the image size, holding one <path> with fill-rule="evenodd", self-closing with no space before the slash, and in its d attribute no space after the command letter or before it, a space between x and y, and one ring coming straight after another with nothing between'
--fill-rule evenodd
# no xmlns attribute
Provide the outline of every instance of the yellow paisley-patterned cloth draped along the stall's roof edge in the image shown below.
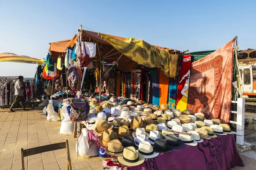
<svg viewBox="0 0 256 170"><path fill-rule="evenodd" d="M101 34L114 48L126 57L149 68L160 68L168 77L176 76L178 54L169 54L166 49L158 49L143 40L126 38L124 41Z"/></svg>

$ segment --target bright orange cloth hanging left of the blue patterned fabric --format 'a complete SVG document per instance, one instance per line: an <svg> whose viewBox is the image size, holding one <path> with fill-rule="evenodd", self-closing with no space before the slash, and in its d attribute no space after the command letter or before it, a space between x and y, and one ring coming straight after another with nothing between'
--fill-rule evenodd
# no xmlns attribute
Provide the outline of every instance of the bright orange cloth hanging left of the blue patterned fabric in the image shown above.
<svg viewBox="0 0 256 170"><path fill-rule="evenodd" d="M168 99L169 77L159 71L160 105L166 104Z"/></svg>

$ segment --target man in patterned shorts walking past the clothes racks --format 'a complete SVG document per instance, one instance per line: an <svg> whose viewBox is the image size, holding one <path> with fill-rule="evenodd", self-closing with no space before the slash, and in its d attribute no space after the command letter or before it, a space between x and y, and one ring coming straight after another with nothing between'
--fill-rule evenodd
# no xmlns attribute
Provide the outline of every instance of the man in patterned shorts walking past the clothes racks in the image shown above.
<svg viewBox="0 0 256 170"><path fill-rule="evenodd" d="M24 90L26 89L26 82L23 82L23 76L19 76L17 82L15 82L15 99L12 103L12 106L9 108L9 112L15 112L12 110L13 106L20 104L23 108L23 111L28 111L28 109L25 108L24 103Z"/></svg>

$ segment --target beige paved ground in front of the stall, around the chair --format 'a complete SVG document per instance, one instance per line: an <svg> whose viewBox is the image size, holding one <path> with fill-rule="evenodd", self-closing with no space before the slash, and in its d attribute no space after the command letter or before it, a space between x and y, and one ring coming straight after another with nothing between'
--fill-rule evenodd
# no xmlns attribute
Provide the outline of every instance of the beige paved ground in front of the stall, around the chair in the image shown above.
<svg viewBox="0 0 256 170"><path fill-rule="evenodd" d="M68 140L73 170L102 170L102 159L76 158L76 138L59 133L61 122L48 122L41 109L32 111L17 110L8 113L0 109L0 170L20 170L20 148L38 147ZM252 170L256 167L255 150L241 155L245 167L235 170ZM66 150L56 150L28 156L25 167L29 170L65 170ZM254 158L254 159L253 159Z"/></svg>

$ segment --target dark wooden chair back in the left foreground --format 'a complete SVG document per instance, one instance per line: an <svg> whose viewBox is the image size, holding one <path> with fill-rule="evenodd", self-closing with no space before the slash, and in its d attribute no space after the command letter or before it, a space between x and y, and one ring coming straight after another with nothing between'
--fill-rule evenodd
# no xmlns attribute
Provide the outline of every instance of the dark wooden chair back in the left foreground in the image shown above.
<svg viewBox="0 0 256 170"><path fill-rule="evenodd" d="M21 169L25 170L24 157L26 157L26 156L31 156L31 155L35 155L38 153L44 153L44 152L58 150L58 149L64 149L64 148L67 148L67 170L72 170L71 161L70 161L70 152L69 152L69 146L68 146L67 140L66 140L66 142L48 144L48 145L33 147L33 148L25 149L25 150L23 150L23 148L21 148L20 149Z"/></svg>

